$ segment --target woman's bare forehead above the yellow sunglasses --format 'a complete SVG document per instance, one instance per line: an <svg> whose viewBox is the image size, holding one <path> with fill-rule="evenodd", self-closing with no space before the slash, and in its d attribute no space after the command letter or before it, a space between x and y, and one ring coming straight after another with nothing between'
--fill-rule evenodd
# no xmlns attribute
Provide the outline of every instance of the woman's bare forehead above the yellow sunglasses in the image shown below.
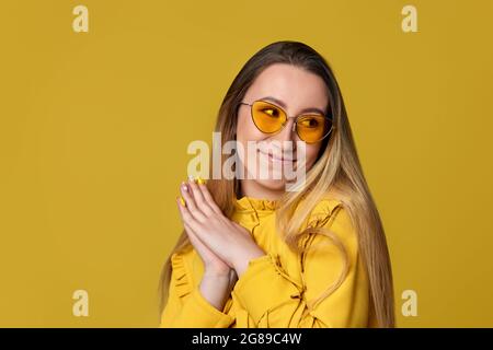
<svg viewBox="0 0 493 350"><path fill-rule="evenodd" d="M290 113L308 107L323 110L329 103L326 85L319 75L286 63L267 67L245 94L249 102L265 96L285 102Z"/></svg>

